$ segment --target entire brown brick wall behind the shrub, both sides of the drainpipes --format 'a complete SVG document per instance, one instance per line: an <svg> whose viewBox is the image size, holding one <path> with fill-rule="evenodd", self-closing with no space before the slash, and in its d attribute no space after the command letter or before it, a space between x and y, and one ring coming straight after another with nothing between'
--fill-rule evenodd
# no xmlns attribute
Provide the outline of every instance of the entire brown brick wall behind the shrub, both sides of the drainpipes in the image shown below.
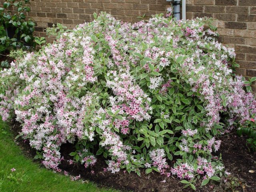
<svg viewBox="0 0 256 192"><path fill-rule="evenodd" d="M4 1L0 0L0 6ZM186 0L187 18L213 17L219 40L234 47L238 74L256 76L256 0ZM28 16L37 23L35 35L45 36L46 27L63 23L68 28L93 19L93 13L106 11L118 19L136 22L144 13L165 13L166 0L32 0ZM46 38L49 42L50 38ZM256 90L256 84L252 86Z"/></svg>

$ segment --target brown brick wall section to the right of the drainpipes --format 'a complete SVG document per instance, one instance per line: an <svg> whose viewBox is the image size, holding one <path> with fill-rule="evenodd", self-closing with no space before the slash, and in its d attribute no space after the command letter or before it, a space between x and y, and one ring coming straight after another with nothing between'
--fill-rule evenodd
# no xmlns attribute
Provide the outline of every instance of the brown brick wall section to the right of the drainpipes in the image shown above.
<svg viewBox="0 0 256 192"><path fill-rule="evenodd" d="M256 0L187 0L186 10L188 19L218 19L220 42L236 50L238 74L256 76Z"/></svg>

